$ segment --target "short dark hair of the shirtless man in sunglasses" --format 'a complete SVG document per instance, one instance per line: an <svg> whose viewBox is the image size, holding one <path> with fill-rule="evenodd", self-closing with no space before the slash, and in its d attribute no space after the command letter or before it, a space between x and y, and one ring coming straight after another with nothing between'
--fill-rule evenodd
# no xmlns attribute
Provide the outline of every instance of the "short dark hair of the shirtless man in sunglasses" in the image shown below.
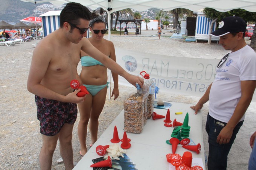
<svg viewBox="0 0 256 170"><path fill-rule="evenodd" d="M89 9L80 3L67 3L67 5L62 9L61 14L59 15L60 27L63 27L64 22L79 25L79 19L90 21L91 12L89 11ZM71 29L74 28L71 27Z"/></svg>

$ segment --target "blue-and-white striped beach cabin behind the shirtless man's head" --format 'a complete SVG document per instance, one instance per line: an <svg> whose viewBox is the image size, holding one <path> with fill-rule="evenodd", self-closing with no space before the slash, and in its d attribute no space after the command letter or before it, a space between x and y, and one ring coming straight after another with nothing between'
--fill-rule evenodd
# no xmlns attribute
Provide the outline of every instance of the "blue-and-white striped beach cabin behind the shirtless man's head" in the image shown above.
<svg viewBox="0 0 256 170"><path fill-rule="evenodd" d="M42 17L43 21L43 32L44 37L57 30L60 26L59 15L61 11L49 11L46 12L40 17ZM87 30L87 38L89 37L89 29Z"/></svg>

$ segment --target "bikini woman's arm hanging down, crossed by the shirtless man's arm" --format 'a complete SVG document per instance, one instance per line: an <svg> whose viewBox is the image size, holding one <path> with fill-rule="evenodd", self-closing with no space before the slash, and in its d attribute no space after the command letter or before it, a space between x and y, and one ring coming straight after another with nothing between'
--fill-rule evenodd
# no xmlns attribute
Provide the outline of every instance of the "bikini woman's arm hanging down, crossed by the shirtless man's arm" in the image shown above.
<svg viewBox="0 0 256 170"><path fill-rule="evenodd" d="M110 53L110 58L112 60L114 60L116 62L116 52L115 52L115 47L113 42L108 41L108 43L110 44L110 48L111 48L111 53ZM112 90L112 95L111 97L113 97L114 95L114 100L118 98L119 96L119 89L118 89L118 74L114 73L111 71L112 77L113 77L113 81L114 81L114 88Z"/></svg>

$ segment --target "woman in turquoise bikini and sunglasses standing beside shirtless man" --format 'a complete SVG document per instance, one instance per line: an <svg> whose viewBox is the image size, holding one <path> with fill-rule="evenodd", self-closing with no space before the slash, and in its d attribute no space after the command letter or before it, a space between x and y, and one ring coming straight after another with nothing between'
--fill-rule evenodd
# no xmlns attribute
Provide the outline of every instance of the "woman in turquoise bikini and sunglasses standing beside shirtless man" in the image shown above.
<svg viewBox="0 0 256 170"><path fill-rule="evenodd" d="M94 47L96 47L99 51L116 61L113 43L103 38L104 34L107 32L105 20L102 17L96 17L90 21L89 26L92 36L88 38L88 40L91 42L91 44L94 45ZM106 100L108 77L107 67L82 51L81 65L82 71L79 77L81 78L82 83L87 88L88 92L90 92L90 94L86 96L84 102L78 104L80 113L78 137L81 145L80 155L83 156L87 152L86 135L89 119L89 129L91 132L90 146L92 146L98 139L98 119ZM115 100L119 96L118 75L112 72L112 77L114 81L114 89L111 96L114 95Z"/></svg>

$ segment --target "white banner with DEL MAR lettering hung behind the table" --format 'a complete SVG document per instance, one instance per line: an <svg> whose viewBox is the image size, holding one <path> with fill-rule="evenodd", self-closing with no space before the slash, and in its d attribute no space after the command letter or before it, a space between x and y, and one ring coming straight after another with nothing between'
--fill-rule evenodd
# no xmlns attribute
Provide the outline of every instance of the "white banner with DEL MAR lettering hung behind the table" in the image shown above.
<svg viewBox="0 0 256 170"><path fill-rule="evenodd" d="M164 56L116 48L116 62L133 75L147 72L160 92L201 97L215 78L219 59ZM132 86L121 76L119 84Z"/></svg>

